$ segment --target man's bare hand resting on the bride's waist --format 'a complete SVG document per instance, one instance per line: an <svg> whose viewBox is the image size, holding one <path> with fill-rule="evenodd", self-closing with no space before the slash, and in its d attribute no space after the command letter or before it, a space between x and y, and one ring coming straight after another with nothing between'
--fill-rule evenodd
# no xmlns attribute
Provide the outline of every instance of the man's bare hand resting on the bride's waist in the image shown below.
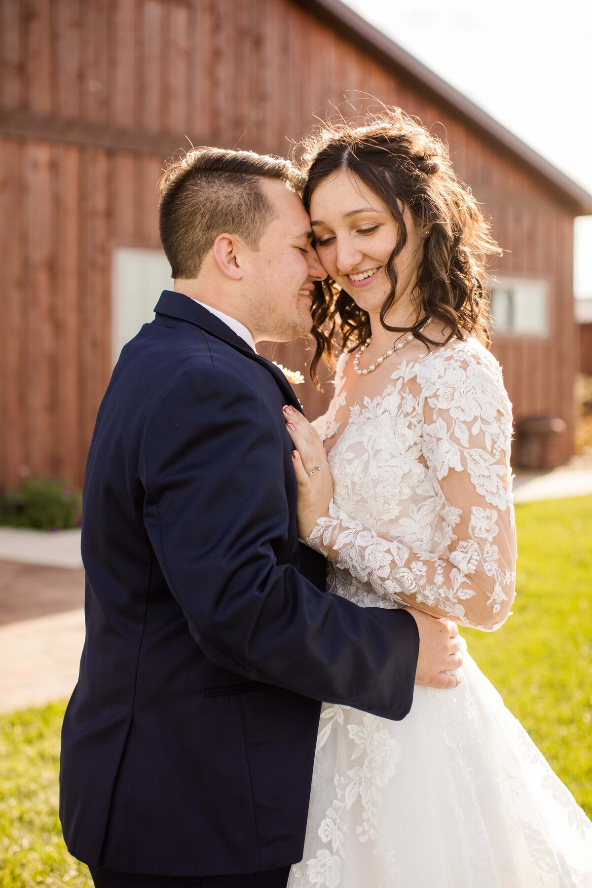
<svg viewBox="0 0 592 888"><path fill-rule="evenodd" d="M457 675L448 673L462 666L458 626L450 620L438 620L414 607L405 610L414 617L419 630L419 657L415 684L427 687L453 688L461 684Z"/></svg>

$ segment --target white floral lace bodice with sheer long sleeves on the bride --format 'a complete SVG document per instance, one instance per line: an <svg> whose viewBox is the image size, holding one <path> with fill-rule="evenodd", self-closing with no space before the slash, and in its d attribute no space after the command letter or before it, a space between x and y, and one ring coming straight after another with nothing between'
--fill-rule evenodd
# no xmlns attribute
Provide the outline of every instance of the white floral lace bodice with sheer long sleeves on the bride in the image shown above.
<svg viewBox="0 0 592 888"><path fill-rule="evenodd" d="M349 404L347 360L314 423L323 440L339 434L328 457L333 501L308 541L333 563L331 590L497 628L516 558L512 416L498 362L477 340L455 339L402 361L383 392Z"/></svg>

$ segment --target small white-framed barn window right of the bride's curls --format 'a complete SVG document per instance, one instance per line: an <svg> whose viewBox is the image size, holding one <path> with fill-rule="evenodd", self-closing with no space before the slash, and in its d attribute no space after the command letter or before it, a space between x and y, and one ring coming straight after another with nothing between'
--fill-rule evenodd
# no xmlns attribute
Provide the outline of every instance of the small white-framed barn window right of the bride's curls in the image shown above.
<svg viewBox="0 0 592 888"><path fill-rule="evenodd" d="M525 278L492 283L492 328L502 336L549 336L549 284Z"/></svg>

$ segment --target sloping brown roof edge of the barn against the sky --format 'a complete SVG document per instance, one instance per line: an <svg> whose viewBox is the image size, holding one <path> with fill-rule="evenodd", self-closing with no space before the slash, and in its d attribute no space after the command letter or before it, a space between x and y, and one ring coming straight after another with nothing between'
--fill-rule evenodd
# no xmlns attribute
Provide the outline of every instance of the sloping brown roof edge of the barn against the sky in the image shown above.
<svg viewBox="0 0 592 888"><path fill-rule="evenodd" d="M296 0L296 2L314 13L319 20L335 28L335 31L353 40L360 49L369 52L383 65L403 74L407 81L414 83L423 93L437 101L440 107L446 107L446 110L456 117L461 117L472 130L478 131L482 137L493 142L503 154L510 155L521 163L534 178L539 179L556 194L558 199L566 203L575 216L592 214L592 194L588 194L584 188L557 170L552 163L546 161L533 148L525 145L501 123L462 95L462 92L455 90L454 86L430 71L429 67L362 19L341 0Z"/></svg>

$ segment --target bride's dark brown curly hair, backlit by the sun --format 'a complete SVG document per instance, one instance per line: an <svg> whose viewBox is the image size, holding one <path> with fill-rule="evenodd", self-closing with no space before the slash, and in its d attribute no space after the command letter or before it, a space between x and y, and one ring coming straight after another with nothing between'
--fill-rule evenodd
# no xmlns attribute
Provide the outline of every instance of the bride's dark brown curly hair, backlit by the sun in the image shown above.
<svg viewBox="0 0 592 888"><path fill-rule="evenodd" d="M478 202L453 170L446 145L400 108L367 115L353 125L341 118L320 125L304 139L301 167L307 176L304 205L310 210L312 194L320 182L337 170L351 170L391 210L399 225L399 238L386 263L391 292L381 308L384 329L413 333L424 345L438 345L420 328L428 317L443 321L446 338L477 337L487 348L489 291L485 263L501 255ZM385 320L397 294L395 260L407 243L403 210L415 223L429 229L418 267L413 327L391 327ZM404 209L403 207L403 209ZM370 319L351 296L327 278L317 284L312 300L312 336L316 351L311 377L320 387L317 367L321 357L335 362L335 347L352 352L370 336Z"/></svg>

